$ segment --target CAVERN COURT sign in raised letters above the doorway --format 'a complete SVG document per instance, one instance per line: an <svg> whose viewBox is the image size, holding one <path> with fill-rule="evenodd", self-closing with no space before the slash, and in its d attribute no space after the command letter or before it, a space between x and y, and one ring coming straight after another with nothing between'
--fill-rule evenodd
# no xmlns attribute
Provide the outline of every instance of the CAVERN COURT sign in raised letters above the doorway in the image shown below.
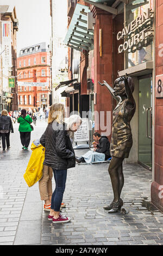
<svg viewBox="0 0 163 256"><path fill-rule="evenodd" d="M153 41L153 12L147 9L128 26L117 33L117 40L124 39L124 43L118 47L118 53L136 52L142 47L147 47Z"/></svg>

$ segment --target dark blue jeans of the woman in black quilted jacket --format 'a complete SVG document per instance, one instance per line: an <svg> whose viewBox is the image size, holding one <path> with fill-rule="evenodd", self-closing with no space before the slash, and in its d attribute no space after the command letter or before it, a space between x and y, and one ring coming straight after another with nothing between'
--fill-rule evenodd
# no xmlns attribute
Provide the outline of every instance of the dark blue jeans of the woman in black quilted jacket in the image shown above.
<svg viewBox="0 0 163 256"><path fill-rule="evenodd" d="M53 169L53 173L55 179L55 190L52 194L51 209L54 211L60 211L66 186L67 170Z"/></svg>

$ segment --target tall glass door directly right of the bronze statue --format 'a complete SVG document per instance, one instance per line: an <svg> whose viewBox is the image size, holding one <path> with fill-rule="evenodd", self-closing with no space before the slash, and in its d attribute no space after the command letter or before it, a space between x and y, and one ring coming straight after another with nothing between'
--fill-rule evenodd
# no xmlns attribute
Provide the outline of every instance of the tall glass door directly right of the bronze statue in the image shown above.
<svg viewBox="0 0 163 256"><path fill-rule="evenodd" d="M152 75L139 77L139 162L152 169Z"/></svg>

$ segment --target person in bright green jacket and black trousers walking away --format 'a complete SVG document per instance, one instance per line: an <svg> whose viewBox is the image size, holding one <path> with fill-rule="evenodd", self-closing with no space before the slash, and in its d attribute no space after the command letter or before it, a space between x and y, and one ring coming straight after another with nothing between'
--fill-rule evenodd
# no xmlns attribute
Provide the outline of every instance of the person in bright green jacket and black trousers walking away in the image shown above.
<svg viewBox="0 0 163 256"><path fill-rule="evenodd" d="M21 116L17 119L17 123L19 123L18 131L20 132L21 143L23 145L22 149L28 149L30 143L30 132L32 132L32 128L30 124L33 122L32 118L27 115L26 109L21 110Z"/></svg>

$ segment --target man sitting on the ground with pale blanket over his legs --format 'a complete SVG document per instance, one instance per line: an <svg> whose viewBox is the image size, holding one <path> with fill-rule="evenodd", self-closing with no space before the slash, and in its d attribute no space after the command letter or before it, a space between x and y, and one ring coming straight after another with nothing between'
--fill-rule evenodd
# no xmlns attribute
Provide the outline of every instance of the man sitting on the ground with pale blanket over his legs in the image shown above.
<svg viewBox="0 0 163 256"><path fill-rule="evenodd" d="M111 157L109 139L106 136L101 136L98 132L93 134L93 139L97 143L97 148L88 151L81 157L76 157L78 163L103 162Z"/></svg>

